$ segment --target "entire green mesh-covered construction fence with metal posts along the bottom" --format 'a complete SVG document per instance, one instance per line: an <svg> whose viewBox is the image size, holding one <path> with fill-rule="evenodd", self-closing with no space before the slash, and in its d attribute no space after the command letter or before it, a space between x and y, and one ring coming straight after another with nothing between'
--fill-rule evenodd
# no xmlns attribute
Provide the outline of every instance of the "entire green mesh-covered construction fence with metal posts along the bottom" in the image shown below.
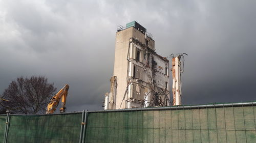
<svg viewBox="0 0 256 143"><path fill-rule="evenodd" d="M7 117L0 116L4 143L256 142L256 102L9 115L6 124Z"/></svg>

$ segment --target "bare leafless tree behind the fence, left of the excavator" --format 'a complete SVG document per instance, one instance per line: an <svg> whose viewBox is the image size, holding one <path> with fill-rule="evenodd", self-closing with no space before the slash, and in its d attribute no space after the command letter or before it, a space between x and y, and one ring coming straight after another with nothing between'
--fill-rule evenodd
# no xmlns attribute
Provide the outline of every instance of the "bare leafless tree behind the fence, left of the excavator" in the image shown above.
<svg viewBox="0 0 256 143"><path fill-rule="evenodd" d="M47 104L55 91L54 84L48 83L48 79L44 76L18 77L16 81L9 84L2 97L8 100L4 106L11 112L45 113Z"/></svg>

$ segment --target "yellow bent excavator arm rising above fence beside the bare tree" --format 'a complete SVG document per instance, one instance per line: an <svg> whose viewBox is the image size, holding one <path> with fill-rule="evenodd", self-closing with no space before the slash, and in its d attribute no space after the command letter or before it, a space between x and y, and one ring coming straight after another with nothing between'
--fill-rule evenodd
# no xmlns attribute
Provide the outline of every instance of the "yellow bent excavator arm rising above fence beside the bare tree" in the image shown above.
<svg viewBox="0 0 256 143"><path fill-rule="evenodd" d="M52 97L51 102L47 106L47 111L46 111L47 114L55 112L61 98L62 98L61 107L59 111L60 112L66 111L65 105L66 105L66 99L68 96L68 91L69 91L69 84L66 84L65 87L63 87L56 95Z"/></svg>

